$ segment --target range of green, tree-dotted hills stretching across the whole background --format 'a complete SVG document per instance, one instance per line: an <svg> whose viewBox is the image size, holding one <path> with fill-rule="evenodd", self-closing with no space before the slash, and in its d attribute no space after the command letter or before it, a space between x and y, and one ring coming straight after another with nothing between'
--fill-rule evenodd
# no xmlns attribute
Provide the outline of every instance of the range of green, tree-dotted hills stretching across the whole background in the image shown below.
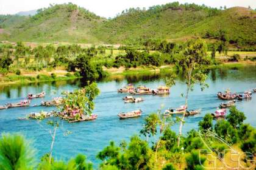
<svg viewBox="0 0 256 170"><path fill-rule="evenodd" d="M10 41L68 41L135 43L141 39L183 40L193 36L256 44L255 10L213 9L173 2L145 9L129 9L104 19L74 4L54 5L18 24L0 19L0 39Z"/></svg>

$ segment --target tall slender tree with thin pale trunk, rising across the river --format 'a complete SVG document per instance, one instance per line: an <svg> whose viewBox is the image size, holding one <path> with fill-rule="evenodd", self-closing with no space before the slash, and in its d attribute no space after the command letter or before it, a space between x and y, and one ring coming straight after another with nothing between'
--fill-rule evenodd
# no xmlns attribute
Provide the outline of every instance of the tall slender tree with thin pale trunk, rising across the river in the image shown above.
<svg viewBox="0 0 256 170"><path fill-rule="evenodd" d="M210 64L210 60L207 58L207 45L205 44L205 41L202 39L189 41L178 63L180 69L183 70L185 82L187 84L185 106L188 106L188 94L190 90L193 89L195 83L200 83L202 89L204 89L206 85L204 82L207 78L205 68L208 64ZM184 110L180 121L178 146L180 146L180 137L182 135L185 114L186 110Z"/></svg>

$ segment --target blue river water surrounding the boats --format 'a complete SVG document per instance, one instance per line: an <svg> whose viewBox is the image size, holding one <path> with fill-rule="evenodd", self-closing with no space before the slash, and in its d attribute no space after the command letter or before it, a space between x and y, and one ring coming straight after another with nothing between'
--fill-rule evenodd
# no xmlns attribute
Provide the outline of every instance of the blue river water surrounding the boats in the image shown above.
<svg viewBox="0 0 256 170"><path fill-rule="evenodd" d="M168 107L179 107L184 104L184 98L180 94L185 92L185 84L182 78L177 80L176 86L171 88L171 94L167 97L143 95L144 101L141 103L126 103L122 98L126 94L118 94L117 89L133 82L135 86L145 85L152 89L163 85L165 75L152 75L141 77L126 77L123 80L112 80L99 82L98 87L101 94L95 100L94 113L98 114L98 120L80 123L66 123L61 121L60 129L57 131L57 137L54 144L54 157L57 160L66 160L74 157L78 153L87 155L88 160L94 165L99 163L96 154L109 144L110 140L119 143L121 140L129 140L133 134L139 134L143 127L144 118L158 109L165 110ZM194 86L193 92L190 92L188 100L189 109L202 109L200 115L187 117L183 132L197 129L197 124L208 112L215 111L216 107L222 102L216 97L218 91L230 88L233 92L243 92L244 90L256 87L256 67L245 67L243 69L216 69L208 75L208 89L201 92L199 86ZM73 90L81 86L79 80L60 81L56 83L37 83L26 85L12 85L0 87L0 105L23 100L29 93L46 92L46 97L33 99L30 107L17 107L6 110L0 110L0 133L1 132L20 132L29 140L34 142L37 149L37 157L49 152L51 136L49 129L52 127L46 124L47 120L18 120L20 117L26 117L30 112L40 110L54 110L55 107L32 107L34 104L40 104L42 100L51 100L51 98L60 96L63 90ZM256 94L249 101L238 101L238 109L246 115L246 122L256 127ZM143 115L139 118L119 120L118 112L128 112L130 110L141 109ZM178 124L171 127L177 132ZM66 131L71 134L66 135Z"/></svg>

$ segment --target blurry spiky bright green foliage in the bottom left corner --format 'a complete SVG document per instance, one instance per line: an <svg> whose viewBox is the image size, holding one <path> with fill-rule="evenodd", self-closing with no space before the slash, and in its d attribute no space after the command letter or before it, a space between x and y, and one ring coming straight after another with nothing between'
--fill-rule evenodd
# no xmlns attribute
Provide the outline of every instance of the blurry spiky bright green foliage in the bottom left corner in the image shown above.
<svg viewBox="0 0 256 170"><path fill-rule="evenodd" d="M18 134L2 134L0 138L0 169L34 169L34 149Z"/></svg>

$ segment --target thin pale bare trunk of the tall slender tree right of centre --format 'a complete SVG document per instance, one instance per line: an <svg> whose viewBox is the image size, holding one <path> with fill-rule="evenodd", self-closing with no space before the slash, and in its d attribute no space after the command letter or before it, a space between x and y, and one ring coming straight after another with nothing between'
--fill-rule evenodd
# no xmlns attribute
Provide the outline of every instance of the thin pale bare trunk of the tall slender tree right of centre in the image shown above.
<svg viewBox="0 0 256 170"><path fill-rule="evenodd" d="M185 107L188 106L188 92L190 91L190 86L191 86L192 70L193 70L193 67L191 67L189 72L188 72L188 84L187 84L187 92L186 92L186 97L185 97ZM187 108L184 110L183 115L182 115L182 120L180 121L179 136L178 136L178 147L180 146L180 137L182 135L182 127L183 127L183 122L184 122L186 111L187 111Z"/></svg>

